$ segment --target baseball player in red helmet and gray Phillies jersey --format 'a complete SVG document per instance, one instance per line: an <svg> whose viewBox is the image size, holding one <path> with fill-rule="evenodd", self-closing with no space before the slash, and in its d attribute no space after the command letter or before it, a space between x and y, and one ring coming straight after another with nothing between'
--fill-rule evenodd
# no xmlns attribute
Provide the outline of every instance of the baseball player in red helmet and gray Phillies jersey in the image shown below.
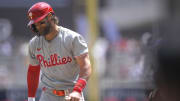
<svg viewBox="0 0 180 101"><path fill-rule="evenodd" d="M83 37L58 26L58 18L45 2L34 4L28 17L28 27L36 33L29 42L28 101L35 101L40 70L40 101L84 101L82 91L91 64Z"/></svg>

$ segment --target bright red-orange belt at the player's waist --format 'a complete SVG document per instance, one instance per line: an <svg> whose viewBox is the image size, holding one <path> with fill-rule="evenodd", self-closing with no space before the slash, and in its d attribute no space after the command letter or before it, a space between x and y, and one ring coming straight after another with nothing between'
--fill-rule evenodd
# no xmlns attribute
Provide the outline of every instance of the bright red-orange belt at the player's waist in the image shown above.
<svg viewBox="0 0 180 101"><path fill-rule="evenodd" d="M47 88L43 87L42 88L43 91L46 91ZM49 89L51 93L53 93L56 96L65 96L66 95L66 91L65 90L56 90L56 89Z"/></svg>

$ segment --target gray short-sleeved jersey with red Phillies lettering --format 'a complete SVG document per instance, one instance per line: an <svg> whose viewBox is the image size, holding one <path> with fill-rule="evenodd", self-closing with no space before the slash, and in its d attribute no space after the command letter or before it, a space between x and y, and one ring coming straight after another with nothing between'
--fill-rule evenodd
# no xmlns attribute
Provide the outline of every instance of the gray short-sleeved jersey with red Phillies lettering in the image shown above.
<svg viewBox="0 0 180 101"><path fill-rule="evenodd" d="M49 88L65 90L73 88L78 79L76 56L88 52L83 37L67 28L59 27L59 34L51 41L35 36L29 42L31 65L41 66L41 83Z"/></svg>

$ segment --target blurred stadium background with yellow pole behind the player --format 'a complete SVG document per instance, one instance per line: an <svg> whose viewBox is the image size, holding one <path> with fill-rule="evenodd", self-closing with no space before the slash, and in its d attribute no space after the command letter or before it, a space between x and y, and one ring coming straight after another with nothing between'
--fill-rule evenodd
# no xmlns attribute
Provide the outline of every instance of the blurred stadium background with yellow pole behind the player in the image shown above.
<svg viewBox="0 0 180 101"><path fill-rule="evenodd" d="M87 101L147 101L152 51L161 36L180 31L179 0L0 0L0 101L27 99L27 44L34 36L27 11L38 1L88 42L94 73Z"/></svg>

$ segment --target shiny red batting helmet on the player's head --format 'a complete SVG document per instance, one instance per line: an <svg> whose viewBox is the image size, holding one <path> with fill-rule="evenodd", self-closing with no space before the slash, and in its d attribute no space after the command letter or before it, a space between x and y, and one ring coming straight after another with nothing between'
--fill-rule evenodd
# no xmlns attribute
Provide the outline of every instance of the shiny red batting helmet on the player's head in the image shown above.
<svg viewBox="0 0 180 101"><path fill-rule="evenodd" d="M34 4L28 10L28 17L30 19L28 26L41 21L44 19L49 13L54 13L52 7L46 2L38 2Z"/></svg>

